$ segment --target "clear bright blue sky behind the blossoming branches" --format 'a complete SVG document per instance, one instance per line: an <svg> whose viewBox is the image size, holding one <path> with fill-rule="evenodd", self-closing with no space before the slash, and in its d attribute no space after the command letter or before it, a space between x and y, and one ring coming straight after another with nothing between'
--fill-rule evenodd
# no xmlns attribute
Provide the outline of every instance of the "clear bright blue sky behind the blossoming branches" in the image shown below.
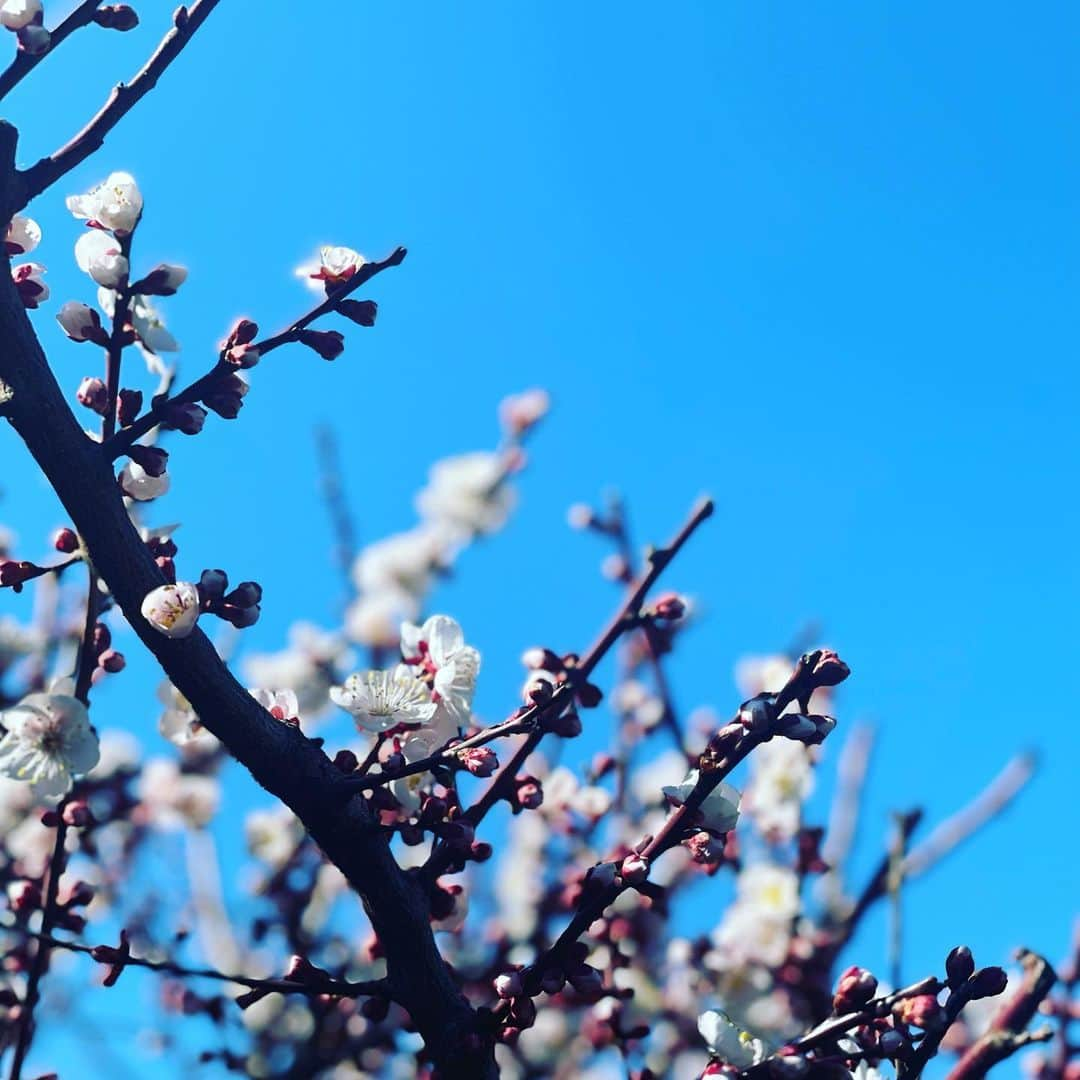
<svg viewBox="0 0 1080 1080"><path fill-rule="evenodd" d="M13 95L24 164L171 6L80 33ZM494 441L503 393L546 386L521 512L437 602L484 650L482 711L512 703L523 647L580 648L609 610L570 502L618 485L660 540L707 490L716 518L671 577L707 609L680 701L730 708L740 654L819 621L854 673L841 724L879 725L868 833L1041 751L1023 800L913 887L908 969L958 940L1057 958L1080 895L1078 23L1066 3L222 3L35 205L54 289L36 318L73 390L92 357L52 313L91 292L62 195L114 168L147 201L137 261L190 267L164 307L192 376L234 316L305 309L292 270L318 244L407 245L345 356L275 353L240 421L175 446L158 517L185 523L185 572L262 582L245 642L340 602L314 424L337 428L374 538L410 523L433 458ZM0 453L0 517L32 549L55 505L8 430ZM98 707L152 681L133 663ZM860 942L872 964L882 933Z"/></svg>

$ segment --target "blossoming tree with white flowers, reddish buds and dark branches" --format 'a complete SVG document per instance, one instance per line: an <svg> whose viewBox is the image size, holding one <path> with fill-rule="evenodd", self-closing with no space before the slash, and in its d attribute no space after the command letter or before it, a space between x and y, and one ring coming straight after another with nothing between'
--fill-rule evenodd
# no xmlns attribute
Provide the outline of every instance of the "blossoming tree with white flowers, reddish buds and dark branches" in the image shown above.
<svg viewBox="0 0 1080 1080"><path fill-rule="evenodd" d="M139 969L162 980L163 1008L222 1034L206 1042L203 1065L251 1076L598 1077L615 1063L639 1080L890 1070L914 1080L946 1055L949 1076L970 1080L1038 1042L1049 1042L1035 1061L1040 1077L1080 1075L1068 1027L1076 946L1056 989L1042 957L1024 954L1010 980L962 945L914 983L896 968L879 981L846 966L867 910L895 905L906 881L993 816L1029 762L1014 761L921 845L920 815L900 818L878 870L853 885L845 862L868 732L843 745L827 828L806 811L820 747L837 741L834 694L849 670L835 652L747 660L745 700L730 719L677 711L667 658L694 618L660 579L708 518L707 500L643 556L618 501L573 508L571 524L610 544L606 571L621 598L584 651L524 651L522 698L503 719L474 715L481 653L454 618L429 610L429 596L461 551L512 513L524 443L548 408L542 391L503 402L498 447L433 467L414 528L355 555L341 626L298 625L287 648L248 657L238 679L204 631L215 618L238 631L255 623L260 588L185 565L145 507L168 491L178 436L198 435L212 413L235 419L268 353L300 346L334 360L346 346L338 327L373 326L376 305L356 294L404 248L380 260L322 248L300 271L316 291L310 310L269 336L241 320L205 374L180 387L159 302L187 270L140 266L138 226L152 204L106 165L99 186L67 195L85 224L73 254L95 303L65 299L52 312L103 356L75 395L90 431L46 357L56 329L42 321L44 268L25 260L42 237L24 212L58 198L216 2L177 9L138 75L37 164L15 167L15 129L0 125L5 254L16 260L0 288L0 416L69 517L51 559L22 558L0 539L0 585L51 597L33 625L0 622L0 1052L12 1080L28 1075L55 1020L46 981L96 974L110 987ZM2 96L72 32L126 30L137 16L87 0L46 29L41 0L2 0L0 23L16 39ZM145 364L132 365L133 350ZM208 424L203 437L227 433ZM333 444L324 449L332 463ZM327 501L348 551L333 478ZM72 603L73 620L58 610ZM94 701L124 669L110 630L122 622L165 678L162 752L149 759L126 747L123 717ZM618 674L602 687L596 670L609 653ZM313 734L335 710L354 724L348 745ZM610 732L609 751L581 769L557 765L586 724ZM740 793L730 778L744 762ZM225 920L207 888L219 781L240 768L274 800L245 822L258 914L243 927ZM489 819L500 805L511 811L505 828ZM193 945L125 889L170 828L185 831L193 852ZM731 902L707 932L685 932L673 903L726 878ZM895 944L899 961L899 932ZM60 972L59 954L86 959ZM1052 1023L1032 1026L1040 1011ZM222 1049L237 1045L224 1032L238 1017L243 1049Z"/></svg>

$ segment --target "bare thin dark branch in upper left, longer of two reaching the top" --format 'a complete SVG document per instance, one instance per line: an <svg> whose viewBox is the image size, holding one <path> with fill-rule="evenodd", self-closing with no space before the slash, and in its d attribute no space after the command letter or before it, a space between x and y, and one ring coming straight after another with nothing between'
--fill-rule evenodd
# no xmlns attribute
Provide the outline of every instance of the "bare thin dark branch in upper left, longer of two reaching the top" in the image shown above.
<svg viewBox="0 0 1080 1080"><path fill-rule="evenodd" d="M218 0L195 0L173 13L173 28L161 39L153 55L126 85L118 83L108 100L73 138L36 165L16 174L8 213L22 210L62 176L71 172L105 143L105 136L158 84L168 66L183 52L195 30L206 22Z"/></svg>

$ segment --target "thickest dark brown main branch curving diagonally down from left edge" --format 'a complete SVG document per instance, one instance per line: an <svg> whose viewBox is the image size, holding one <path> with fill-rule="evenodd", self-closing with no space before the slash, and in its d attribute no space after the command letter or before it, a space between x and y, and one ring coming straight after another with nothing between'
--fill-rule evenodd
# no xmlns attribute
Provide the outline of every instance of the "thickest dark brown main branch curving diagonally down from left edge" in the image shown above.
<svg viewBox="0 0 1080 1080"><path fill-rule="evenodd" d="M0 207L10 211L15 130L0 123ZM56 383L11 281L0 264L0 405L49 478L85 544L92 565L129 623L205 727L267 791L300 819L326 858L364 901L387 958L390 996L409 1013L447 1077L495 1075L491 1041L443 961L422 883L390 852L363 798L319 745L275 720L229 673L198 629L185 638L158 633L143 598L165 583L124 507L99 444L83 434Z"/></svg>

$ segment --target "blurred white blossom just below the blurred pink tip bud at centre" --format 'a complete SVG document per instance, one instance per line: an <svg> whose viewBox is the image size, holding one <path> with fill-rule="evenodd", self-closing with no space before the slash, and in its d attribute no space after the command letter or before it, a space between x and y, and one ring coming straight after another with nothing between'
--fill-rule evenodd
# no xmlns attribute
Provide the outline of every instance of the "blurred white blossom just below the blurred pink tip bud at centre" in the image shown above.
<svg viewBox="0 0 1080 1080"><path fill-rule="evenodd" d="M421 517L462 534L488 534L501 528L514 505L505 483L502 456L477 450L444 458L431 467L428 486L416 497Z"/></svg>

